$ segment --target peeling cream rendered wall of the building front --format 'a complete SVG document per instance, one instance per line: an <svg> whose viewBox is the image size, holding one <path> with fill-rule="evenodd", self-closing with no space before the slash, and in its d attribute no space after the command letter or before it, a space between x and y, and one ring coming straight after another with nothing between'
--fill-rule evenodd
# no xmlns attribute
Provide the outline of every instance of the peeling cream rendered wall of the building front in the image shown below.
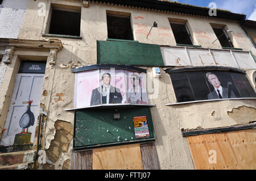
<svg viewBox="0 0 256 181"><path fill-rule="evenodd" d="M45 2L47 5L46 16L38 16L38 3L40 2ZM41 33L47 33L49 2L43 0L30 1L24 15L19 38L34 40L55 38L41 36ZM81 7L81 3L51 2ZM82 40L58 37L57 39L63 42L64 48L57 54L56 65L51 67L47 64L46 68L43 87L45 96L42 96L41 101L48 112L44 149L55 150L55 155L50 155L50 153L48 155L51 161L54 162L55 169L61 169L63 165L67 168L67 163L72 155L72 139L70 137L72 133L70 129L65 128L62 132L69 135L65 137L65 149L56 148L56 146L59 146L60 137L58 135L61 133L56 128L56 124L61 120L64 121L61 123L68 124L68 128L73 127L74 113L64 111L67 108L73 108L75 74L71 73L71 67L96 64L96 40L106 40L108 38L106 10L130 12L134 40L140 43L176 45L168 18L180 18L188 20L189 29L196 45L207 48L221 48L218 41L212 44L217 37L209 23L217 23L226 24L230 30L233 30L230 37L235 47L244 50L250 50L252 47L245 32L236 22L124 7L93 5L92 3L89 3L89 8L81 7L80 36L82 36ZM158 28L153 28L148 39L146 39L154 21L158 23ZM147 68L147 70L148 75L152 75L152 69ZM244 124L249 123L255 115L256 105L254 100L225 100L165 106L165 104L174 103L176 99L170 75L162 70L162 78L159 80L152 79L148 82L151 81L155 81L155 90L148 97L150 104L156 104L156 107L151 108L151 114L156 134L155 145L160 169L194 169L189 146L186 138L182 137L181 129L216 128ZM246 116L248 113L252 113L252 115Z"/></svg>

